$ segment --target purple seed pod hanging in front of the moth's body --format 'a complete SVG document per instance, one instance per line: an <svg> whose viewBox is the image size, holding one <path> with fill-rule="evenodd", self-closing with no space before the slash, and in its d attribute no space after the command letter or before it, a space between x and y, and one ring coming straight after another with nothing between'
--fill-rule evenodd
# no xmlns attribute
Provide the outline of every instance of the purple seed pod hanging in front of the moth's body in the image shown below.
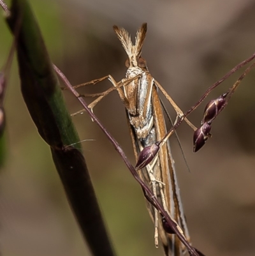
<svg viewBox="0 0 255 256"><path fill-rule="evenodd" d="M152 162L154 156L156 156L158 151L159 146L157 145L157 143L145 147L138 156L135 169L140 170L146 165L148 165L150 162Z"/></svg>

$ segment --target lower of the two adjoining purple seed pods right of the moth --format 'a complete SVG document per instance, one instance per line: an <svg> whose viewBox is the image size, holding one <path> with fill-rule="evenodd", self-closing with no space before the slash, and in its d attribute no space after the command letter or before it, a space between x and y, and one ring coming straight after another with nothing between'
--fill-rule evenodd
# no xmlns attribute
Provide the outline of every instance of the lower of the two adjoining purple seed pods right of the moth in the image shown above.
<svg viewBox="0 0 255 256"><path fill-rule="evenodd" d="M210 135L211 124L204 123L200 128L198 128L193 135L193 152L197 152L205 145Z"/></svg>

